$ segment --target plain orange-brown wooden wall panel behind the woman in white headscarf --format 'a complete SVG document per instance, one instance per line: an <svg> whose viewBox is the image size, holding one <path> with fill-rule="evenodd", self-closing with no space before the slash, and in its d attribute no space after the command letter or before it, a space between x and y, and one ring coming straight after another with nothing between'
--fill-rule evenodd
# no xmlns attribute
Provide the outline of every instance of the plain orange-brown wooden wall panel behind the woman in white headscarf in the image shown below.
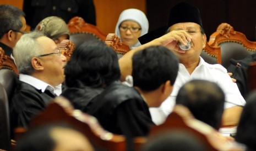
<svg viewBox="0 0 256 151"><path fill-rule="evenodd" d="M115 27L120 13L124 9L137 8L146 10L145 0L94 0L96 9L96 24L104 33L115 33Z"/></svg>

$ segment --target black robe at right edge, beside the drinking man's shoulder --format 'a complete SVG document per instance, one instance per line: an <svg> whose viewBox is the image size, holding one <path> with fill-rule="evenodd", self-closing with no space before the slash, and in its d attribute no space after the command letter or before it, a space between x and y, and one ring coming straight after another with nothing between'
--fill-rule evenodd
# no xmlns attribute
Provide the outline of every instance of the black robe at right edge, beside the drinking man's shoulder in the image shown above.
<svg viewBox="0 0 256 151"><path fill-rule="evenodd" d="M247 68L251 62L256 61L256 53L242 59L238 60L238 62L243 67L237 67L235 65L230 65L227 68L227 72L232 72L232 78L236 79L236 84L238 86L241 95L245 98L248 95L248 88L247 88Z"/></svg>

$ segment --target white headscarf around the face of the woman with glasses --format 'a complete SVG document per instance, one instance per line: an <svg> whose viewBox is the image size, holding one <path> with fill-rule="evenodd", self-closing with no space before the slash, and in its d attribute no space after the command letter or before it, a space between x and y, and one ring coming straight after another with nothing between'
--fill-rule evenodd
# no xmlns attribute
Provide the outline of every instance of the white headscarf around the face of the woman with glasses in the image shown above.
<svg viewBox="0 0 256 151"><path fill-rule="evenodd" d="M148 33L149 21L146 18L146 15L139 9L130 8L130 9L126 9L126 10L122 11L122 13L120 14L119 19L117 21L115 33L120 39L121 39L121 36L120 36L120 32L119 32L119 25L125 20L132 20L132 21L138 22L138 24L141 27L140 36L143 36L144 34ZM130 48L133 49L135 47L138 47L139 45L141 45L141 44L138 41L136 44L132 45Z"/></svg>

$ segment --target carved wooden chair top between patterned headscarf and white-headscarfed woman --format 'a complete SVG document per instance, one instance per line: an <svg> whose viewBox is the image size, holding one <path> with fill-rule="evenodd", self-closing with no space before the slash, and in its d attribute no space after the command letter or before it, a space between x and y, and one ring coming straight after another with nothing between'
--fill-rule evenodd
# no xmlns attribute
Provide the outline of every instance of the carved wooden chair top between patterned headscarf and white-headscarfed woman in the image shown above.
<svg viewBox="0 0 256 151"><path fill-rule="evenodd" d="M86 23L83 18L78 16L70 19L68 22L70 32L69 40L72 41L76 47L79 47L84 41L91 39L100 39L104 41L106 34L102 33L96 26Z"/></svg>

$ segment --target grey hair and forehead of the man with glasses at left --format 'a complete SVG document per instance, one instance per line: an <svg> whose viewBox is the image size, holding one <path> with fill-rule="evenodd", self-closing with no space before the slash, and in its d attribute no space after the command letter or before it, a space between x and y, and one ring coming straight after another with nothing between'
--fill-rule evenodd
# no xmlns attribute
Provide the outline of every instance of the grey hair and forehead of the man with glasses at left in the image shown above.
<svg viewBox="0 0 256 151"><path fill-rule="evenodd" d="M34 68L31 65L32 57L43 54L43 48L37 38L44 36L41 32L26 33L17 42L13 49L15 63L19 73L31 75Z"/></svg>

